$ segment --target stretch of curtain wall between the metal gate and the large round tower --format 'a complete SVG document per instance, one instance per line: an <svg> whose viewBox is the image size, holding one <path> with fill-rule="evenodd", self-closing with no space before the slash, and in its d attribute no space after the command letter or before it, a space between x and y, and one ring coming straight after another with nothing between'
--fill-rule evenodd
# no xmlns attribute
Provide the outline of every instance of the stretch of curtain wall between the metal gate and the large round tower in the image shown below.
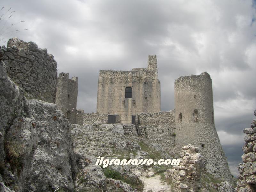
<svg viewBox="0 0 256 192"><path fill-rule="evenodd" d="M174 110L158 113L140 113L137 132L152 143L157 143L166 150L171 150L175 142ZM144 132L143 132L144 129Z"/></svg>

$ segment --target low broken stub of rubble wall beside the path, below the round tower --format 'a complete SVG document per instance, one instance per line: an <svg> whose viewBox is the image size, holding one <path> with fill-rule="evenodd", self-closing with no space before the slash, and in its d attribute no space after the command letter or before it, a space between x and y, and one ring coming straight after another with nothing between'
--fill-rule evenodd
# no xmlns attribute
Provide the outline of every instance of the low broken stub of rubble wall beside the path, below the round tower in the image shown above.
<svg viewBox="0 0 256 192"><path fill-rule="evenodd" d="M187 145L182 147L180 164L168 169L165 178L171 182L173 192L199 191L201 184L201 155L199 149Z"/></svg>

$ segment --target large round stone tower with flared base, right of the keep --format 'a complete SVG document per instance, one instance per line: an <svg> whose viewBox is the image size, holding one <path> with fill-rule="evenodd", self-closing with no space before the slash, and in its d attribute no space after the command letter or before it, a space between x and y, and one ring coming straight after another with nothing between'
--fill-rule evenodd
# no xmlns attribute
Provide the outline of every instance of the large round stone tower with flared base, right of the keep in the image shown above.
<svg viewBox="0 0 256 192"><path fill-rule="evenodd" d="M214 126L212 80L207 72L179 77L174 83L175 148L200 148L204 169L217 178L232 181L228 163Z"/></svg>

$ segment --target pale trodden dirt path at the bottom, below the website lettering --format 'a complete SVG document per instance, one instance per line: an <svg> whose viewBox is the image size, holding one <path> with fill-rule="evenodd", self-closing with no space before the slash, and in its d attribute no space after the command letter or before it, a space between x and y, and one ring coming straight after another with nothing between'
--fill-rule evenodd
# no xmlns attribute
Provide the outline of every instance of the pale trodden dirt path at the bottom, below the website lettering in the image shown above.
<svg viewBox="0 0 256 192"><path fill-rule="evenodd" d="M160 175L149 178L143 176L140 179L144 182L143 192L171 192L170 185L163 184Z"/></svg>

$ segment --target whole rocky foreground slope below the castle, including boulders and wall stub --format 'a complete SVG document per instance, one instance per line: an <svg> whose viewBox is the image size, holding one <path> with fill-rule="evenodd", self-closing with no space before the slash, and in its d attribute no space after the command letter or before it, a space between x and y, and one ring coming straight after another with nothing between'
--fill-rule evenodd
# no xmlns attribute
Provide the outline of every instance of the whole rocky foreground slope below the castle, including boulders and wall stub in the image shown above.
<svg viewBox="0 0 256 192"><path fill-rule="evenodd" d="M200 151L185 146L179 166L95 165L98 156L168 159L157 144L125 136L121 124L71 125L55 104L28 100L0 63L0 191L234 191L201 170ZM144 187L143 178L163 188ZM156 182L156 183L157 183ZM154 186L155 187L155 186Z"/></svg>

